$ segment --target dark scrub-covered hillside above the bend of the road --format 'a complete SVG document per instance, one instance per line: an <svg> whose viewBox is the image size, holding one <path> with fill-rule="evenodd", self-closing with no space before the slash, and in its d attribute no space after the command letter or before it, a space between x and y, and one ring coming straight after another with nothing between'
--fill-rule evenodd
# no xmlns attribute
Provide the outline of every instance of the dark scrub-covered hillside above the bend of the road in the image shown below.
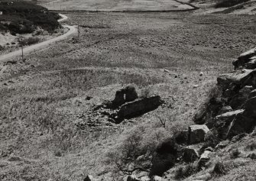
<svg viewBox="0 0 256 181"><path fill-rule="evenodd" d="M59 15L33 2L1 0L0 12L0 31L11 34L32 33L37 27L53 32L60 26Z"/></svg>

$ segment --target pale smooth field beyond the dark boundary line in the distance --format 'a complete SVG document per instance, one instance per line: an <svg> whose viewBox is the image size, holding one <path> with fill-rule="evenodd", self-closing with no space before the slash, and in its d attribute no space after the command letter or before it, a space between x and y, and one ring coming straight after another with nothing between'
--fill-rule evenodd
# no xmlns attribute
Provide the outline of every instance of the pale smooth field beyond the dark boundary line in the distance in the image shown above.
<svg viewBox="0 0 256 181"><path fill-rule="evenodd" d="M85 11L179 11L193 9L175 0L68 0L44 4L53 10L85 10Z"/></svg>

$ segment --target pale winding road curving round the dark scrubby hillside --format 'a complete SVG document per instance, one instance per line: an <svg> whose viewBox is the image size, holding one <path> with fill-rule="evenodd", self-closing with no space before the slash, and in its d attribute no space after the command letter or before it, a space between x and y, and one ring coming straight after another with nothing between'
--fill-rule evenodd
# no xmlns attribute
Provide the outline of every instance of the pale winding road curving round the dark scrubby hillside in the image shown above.
<svg viewBox="0 0 256 181"><path fill-rule="evenodd" d="M58 20L59 22L65 21L67 19L67 17L65 15L60 14L60 16L62 18L60 20ZM63 25L63 27L69 28L69 31L67 31L66 34L62 34L59 37L54 37L50 40L43 41L39 44L33 44L29 47L25 47L23 49L24 54L28 54L28 53L31 53L31 52L36 51L36 50L42 50L44 48L49 47L50 44L56 43L57 41L60 41L60 40L65 40L70 35L76 34L76 27L69 26L69 25ZM0 56L0 62L5 61L5 60L9 60L9 59L13 59L13 58L18 57L18 56L21 56L21 50L15 50L11 53L7 53L5 55Z"/></svg>

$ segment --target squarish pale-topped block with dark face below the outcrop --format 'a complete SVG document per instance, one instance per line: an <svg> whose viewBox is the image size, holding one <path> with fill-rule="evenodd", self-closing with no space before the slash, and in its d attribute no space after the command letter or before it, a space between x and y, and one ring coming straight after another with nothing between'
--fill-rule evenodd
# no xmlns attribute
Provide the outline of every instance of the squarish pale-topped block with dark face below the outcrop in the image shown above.
<svg viewBox="0 0 256 181"><path fill-rule="evenodd" d="M197 144L203 142L205 139L206 133L209 131L209 128L206 124L192 125L189 127L189 144Z"/></svg>

